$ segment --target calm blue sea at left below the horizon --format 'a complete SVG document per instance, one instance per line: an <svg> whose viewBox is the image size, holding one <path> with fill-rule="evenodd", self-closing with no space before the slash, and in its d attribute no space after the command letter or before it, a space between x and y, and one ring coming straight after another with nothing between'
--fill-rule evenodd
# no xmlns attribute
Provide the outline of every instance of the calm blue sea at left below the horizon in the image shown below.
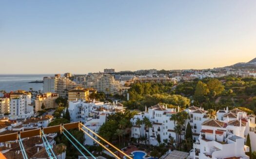
<svg viewBox="0 0 256 159"><path fill-rule="evenodd" d="M43 83L28 83L36 80L43 80L43 77L54 75L0 75L0 90L6 92L26 90L33 88L34 91L42 90Z"/></svg>

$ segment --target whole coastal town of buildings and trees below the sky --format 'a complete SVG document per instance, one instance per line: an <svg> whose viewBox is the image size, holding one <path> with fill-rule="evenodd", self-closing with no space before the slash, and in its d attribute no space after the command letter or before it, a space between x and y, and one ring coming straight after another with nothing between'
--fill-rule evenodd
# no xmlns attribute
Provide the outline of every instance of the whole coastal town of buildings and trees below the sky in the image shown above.
<svg viewBox="0 0 256 159"><path fill-rule="evenodd" d="M43 90L0 91L0 152L7 159L256 159L256 59L31 82Z"/></svg>

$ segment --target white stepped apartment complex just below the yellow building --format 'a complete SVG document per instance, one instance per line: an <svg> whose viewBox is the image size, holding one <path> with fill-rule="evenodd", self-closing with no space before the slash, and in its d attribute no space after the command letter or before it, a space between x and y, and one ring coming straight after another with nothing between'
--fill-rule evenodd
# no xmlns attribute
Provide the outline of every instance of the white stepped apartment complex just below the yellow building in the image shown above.
<svg viewBox="0 0 256 159"><path fill-rule="evenodd" d="M108 115L114 114L116 112L122 112L123 110L123 105L120 103L110 105L104 104L103 102L85 102L82 100L70 101L68 108L71 119L70 122L81 121L86 127L90 128L96 133L98 132L99 127L101 127L106 122ZM88 133L95 137L91 132L88 131ZM95 142L86 134L84 137L85 145L95 144Z"/></svg>

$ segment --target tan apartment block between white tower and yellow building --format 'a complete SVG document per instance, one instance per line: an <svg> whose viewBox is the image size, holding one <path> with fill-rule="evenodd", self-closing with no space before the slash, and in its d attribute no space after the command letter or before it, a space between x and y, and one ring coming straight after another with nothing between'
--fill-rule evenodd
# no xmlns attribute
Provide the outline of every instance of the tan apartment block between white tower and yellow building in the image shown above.
<svg viewBox="0 0 256 159"><path fill-rule="evenodd" d="M44 105L44 109L58 108L58 104L55 102L58 97L58 94L50 92L37 95L35 99L35 111L41 111L42 105Z"/></svg>

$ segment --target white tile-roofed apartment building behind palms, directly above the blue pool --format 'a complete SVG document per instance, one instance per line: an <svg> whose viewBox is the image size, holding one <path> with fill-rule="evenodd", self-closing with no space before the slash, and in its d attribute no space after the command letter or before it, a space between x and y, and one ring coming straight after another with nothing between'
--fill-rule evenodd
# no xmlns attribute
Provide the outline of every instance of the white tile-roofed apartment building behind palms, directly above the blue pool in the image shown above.
<svg viewBox="0 0 256 159"><path fill-rule="evenodd" d="M179 111L179 108L178 108ZM160 140L163 142L165 139L169 139L170 136L176 139L176 134L174 132L174 121L170 121L170 117L172 114L177 113L176 109L167 109L163 105L155 105L153 107L145 109L144 112L135 115L134 118L131 119L132 127L132 137L138 139L141 136L147 136L149 133L150 144L158 145L157 135L160 135ZM143 120L146 117L150 120L153 127L147 129L145 125L139 127L136 125L137 119ZM184 131L182 131L181 138L184 138Z"/></svg>

